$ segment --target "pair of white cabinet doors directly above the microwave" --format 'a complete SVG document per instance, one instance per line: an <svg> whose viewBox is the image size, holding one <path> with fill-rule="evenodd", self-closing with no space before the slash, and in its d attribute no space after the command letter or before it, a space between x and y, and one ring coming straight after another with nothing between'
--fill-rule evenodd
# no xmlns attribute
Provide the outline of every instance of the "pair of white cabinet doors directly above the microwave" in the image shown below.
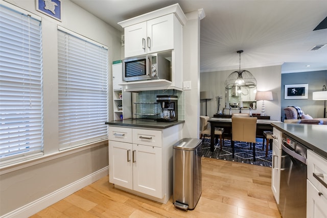
<svg viewBox="0 0 327 218"><path fill-rule="evenodd" d="M174 49L174 19L168 14L126 27L125 58Z"/></svg>

